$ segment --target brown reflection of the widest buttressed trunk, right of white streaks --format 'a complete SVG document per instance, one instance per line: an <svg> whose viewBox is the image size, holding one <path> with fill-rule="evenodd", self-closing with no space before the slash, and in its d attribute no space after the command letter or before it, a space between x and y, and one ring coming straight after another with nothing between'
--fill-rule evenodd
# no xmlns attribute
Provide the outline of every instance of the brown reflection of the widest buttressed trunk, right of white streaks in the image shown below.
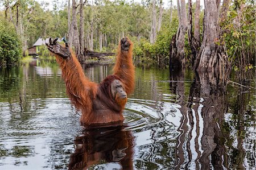
<svg viewBox="0 0 256 170"><path fill-rule="evenodd" d="M202 169L210 168L210 158L214 169L222 169L222 156L225 154L224 138L221 125L224 113L227 111L225 99L225 86L218 86L217 80L207 73L200 73L200 97L204 99L201 116L204 120L203 136L201 144L203 154L199 161Z"/></svg>

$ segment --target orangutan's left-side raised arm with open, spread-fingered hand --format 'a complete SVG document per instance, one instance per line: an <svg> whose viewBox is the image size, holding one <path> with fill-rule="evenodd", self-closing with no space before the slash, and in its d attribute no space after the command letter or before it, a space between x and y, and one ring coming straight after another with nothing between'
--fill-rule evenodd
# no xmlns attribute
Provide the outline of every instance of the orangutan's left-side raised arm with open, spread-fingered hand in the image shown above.
<svg viewBox="0 0 256 170"><path fill-rule="evenodd" d="M66 43L65 47L57 43L57 39L49 39L49 44L46 44L49 51L54 53L57 63L60 65L63 80L65 81L68 96L71 101L78 107L87 111L92 110L92 97L96 90L94 82L90 82L82 70L81 64L76 56L71 52Z"/></svg>

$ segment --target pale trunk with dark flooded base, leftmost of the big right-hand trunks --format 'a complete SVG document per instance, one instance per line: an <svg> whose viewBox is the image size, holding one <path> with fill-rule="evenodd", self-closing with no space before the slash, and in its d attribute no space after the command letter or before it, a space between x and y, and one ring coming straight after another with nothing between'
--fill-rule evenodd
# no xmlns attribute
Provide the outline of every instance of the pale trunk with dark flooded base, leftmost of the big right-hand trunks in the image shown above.
<svg viewBox="0 0 256 170"><path fill-rule="evenodd" d="M185 52L184 52L184 42L185 42L185 34L187 32L188 27L188 19L187 19L187 11L185 0L177 0L177 12L179 17L179 27L176 33L175 45L170 45L170 62L173 65L170 65L170 68L176 66L185 66ZM172 40L174 42L174 40Z"/></svg>

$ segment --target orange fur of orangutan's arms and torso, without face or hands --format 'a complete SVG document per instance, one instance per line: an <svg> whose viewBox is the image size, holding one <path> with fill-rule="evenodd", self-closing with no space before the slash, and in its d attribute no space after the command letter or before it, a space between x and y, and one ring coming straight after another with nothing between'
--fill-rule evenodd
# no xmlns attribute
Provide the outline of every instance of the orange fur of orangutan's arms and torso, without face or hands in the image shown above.
<svg viewBox="0 0 256 170"><path fill-rule="evenodd" d="M133 44L130 40L129 43L131 45L128 52L122 52L119 44L114 75L105 78L100 85L89 81L85 77L84 71L73 52L68 59L63 59L55 54L66 84L67 94L76 108L82 111L80 122L83 125L123 121L122 111L125 109L127 99L120 100L115 98L113 101L106 100L111 93L110 89L106 89L105 86L110 85L113 78L118 78L123 82L127 94L133 92L135 74L132 59ZM101 104L102 109L98 109Z"/></svg>

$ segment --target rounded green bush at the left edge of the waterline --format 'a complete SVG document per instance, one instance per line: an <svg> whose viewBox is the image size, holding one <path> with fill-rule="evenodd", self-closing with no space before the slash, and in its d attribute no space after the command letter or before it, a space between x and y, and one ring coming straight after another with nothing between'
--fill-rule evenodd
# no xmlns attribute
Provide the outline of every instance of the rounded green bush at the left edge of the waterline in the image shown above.
<svg viewBox="0 0 256 170"><path fill-rule="evenodd" d="M16 63L21 56L22 47L13 24L0 19L0 65Z"/></svg>

